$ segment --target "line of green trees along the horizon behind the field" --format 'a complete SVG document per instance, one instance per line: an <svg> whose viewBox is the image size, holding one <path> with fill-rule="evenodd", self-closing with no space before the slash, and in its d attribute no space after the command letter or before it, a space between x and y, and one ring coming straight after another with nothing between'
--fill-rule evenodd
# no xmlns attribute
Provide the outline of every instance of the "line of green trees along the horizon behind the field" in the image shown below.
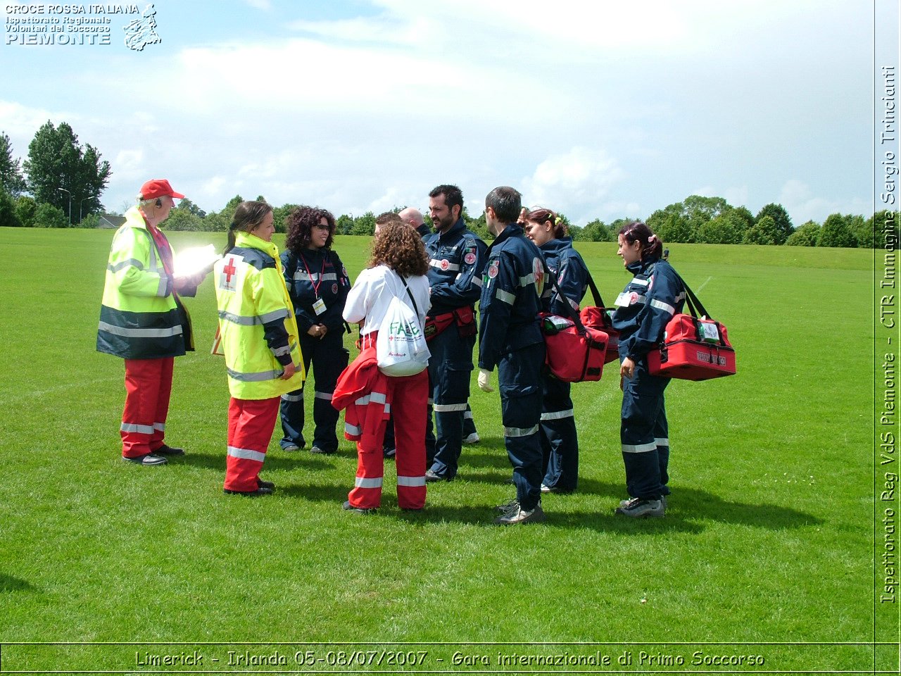
<svg viewBox="0 0 901 676"><path fill-rule="evenodd" d="M68 123L54 127L50 121L35 133L28 146L28 159L13 159L9 137L0 133L0 225L15 227L96 227L104 206L100 201L112 170L108 161L91 146L82 146ZM26 178L27 177L27 178ZM264 199L258 196L258 199ZM222 211L207 214L189 199L182 199L163 224L168 230L225 232L232 223L241 196L234 196ZM296 208L286 204L274 209L278 232L285 232L285 219ZM403 206L396 206L399 212ZM428 216L426 216L428 218ZM641 218L618 218L606 224L600 219L579 226L569 223L579 242L615 242L619 229ZM464 209L470 230L491 239L485 215L472 218ZM744 206L732 206L723 197L687 196L683 201L658 209L645 219L651 230L668 243L766 244L878 248L887 233L895 233L896 212L862 215L832 214L822 224L807 221L795 227L785 208L769 204L757 215ZM366 212L342 214L335 220L339 234L371 235L376 215Z"/></svg>

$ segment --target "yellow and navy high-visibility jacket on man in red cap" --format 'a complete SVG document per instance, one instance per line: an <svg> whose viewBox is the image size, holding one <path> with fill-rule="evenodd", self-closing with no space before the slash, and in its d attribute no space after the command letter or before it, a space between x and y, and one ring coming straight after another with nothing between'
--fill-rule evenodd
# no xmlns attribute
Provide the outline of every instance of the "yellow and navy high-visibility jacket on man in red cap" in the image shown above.
<svg viewBox="0 0 901 676"><path fill-rule="evenodd" d="M164 235L165 236L165 235ZM172 295L172 279L137 206L125 214L106 264L97 351L124 359L185 353L189 321Z"/></svg>

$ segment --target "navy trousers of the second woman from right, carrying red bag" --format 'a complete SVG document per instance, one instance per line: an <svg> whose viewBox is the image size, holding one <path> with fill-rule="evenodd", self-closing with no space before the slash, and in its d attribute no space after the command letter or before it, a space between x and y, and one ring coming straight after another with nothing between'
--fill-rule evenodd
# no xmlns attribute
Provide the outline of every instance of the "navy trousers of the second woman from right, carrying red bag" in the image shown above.
<svg viewBox="0 0 901 676"><path fill-rule="evenodd" d="M543 376L542 389L542 483L574 490L578 484L578 435L570 384Z"/></svg>

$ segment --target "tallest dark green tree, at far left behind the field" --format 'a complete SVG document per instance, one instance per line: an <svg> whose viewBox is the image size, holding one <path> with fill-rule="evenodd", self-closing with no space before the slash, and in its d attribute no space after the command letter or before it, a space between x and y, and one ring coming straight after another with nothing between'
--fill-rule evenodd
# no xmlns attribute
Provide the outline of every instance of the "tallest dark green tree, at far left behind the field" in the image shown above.
<svg viewBox="0 0 901 676"><path fill-rule="evenodd" d="M82 215L103 208L100 195L112 171L110 163L100 157L90 144L84 148L79 145L68 123L55 128L48 121L28 145L24 162L28 190L39 203L59 207L72 224L77 224Z"/></svg>

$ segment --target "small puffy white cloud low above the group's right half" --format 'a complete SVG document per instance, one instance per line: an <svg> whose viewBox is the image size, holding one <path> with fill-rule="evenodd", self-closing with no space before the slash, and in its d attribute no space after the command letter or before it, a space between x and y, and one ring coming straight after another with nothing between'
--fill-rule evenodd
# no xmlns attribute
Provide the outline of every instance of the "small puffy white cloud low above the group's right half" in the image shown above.
<svg viewBox="0 0 901 676"><path fill-rule="evenodd" d="M623 169L605 151L577 146L552 155L523 178L523 201L565 211L572 222L585 224L621 178Z"/></svg>

